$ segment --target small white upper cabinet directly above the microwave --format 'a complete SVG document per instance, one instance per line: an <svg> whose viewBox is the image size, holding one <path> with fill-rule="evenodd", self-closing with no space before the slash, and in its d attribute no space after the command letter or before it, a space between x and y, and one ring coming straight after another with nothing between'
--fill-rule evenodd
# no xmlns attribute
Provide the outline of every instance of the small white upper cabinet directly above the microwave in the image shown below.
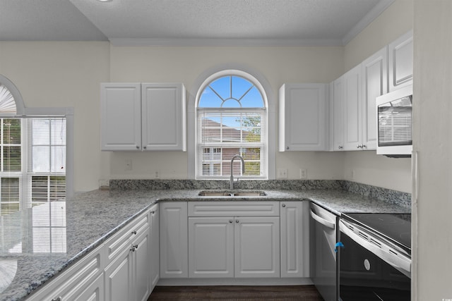
<svg viewBox="0 0 452 301"><path fill-rule="evenodd" d="M413 39L412 31L388 45L389 92L412 83Z"/></svg>

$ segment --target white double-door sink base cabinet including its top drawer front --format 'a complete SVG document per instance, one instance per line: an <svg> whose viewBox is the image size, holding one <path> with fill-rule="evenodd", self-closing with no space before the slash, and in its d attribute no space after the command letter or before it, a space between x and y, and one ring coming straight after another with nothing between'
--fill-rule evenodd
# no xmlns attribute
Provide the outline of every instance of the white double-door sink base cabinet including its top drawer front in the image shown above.
<svg viewBox="0 0 452 301"><path fill-rule="evenodd" d="M279 237L279 202L190 202L189 278L278 278Z"/></svg>

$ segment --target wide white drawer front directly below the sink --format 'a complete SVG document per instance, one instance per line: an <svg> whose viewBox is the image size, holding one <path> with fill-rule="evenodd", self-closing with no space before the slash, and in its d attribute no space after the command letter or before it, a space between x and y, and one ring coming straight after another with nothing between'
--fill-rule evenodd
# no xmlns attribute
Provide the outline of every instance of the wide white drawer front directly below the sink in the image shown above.
<svg viewBox="0 0 452 301"><path fill-rule="evenodd" d="M279 202L189 202L189 216L279 215Z"/></svg>

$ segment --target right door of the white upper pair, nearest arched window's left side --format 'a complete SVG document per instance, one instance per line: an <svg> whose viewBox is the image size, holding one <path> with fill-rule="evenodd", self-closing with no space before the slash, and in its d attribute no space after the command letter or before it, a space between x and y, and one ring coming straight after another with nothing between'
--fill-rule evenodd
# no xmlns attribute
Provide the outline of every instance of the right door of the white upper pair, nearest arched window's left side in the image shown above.
<svg viewBox="0 0 452 301"><path fill-rule="evenodd" d="M185 88L177 83L141 85L143 150L186 150Z"/></svg>

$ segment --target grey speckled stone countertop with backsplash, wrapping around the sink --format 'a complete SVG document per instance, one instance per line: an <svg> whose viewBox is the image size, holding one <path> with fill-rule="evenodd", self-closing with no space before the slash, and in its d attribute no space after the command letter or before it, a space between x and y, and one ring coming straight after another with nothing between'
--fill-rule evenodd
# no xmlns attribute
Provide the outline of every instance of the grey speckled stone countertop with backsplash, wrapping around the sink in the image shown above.
<svg viewBox="0 0 452 301"><path fill-rule="evenodd" d="M78 193L66 201L1 216L0 301L25 299L156 202L231 199L198 196L201 190L226 188L227 181L218 182L220 186L213 181L118 180L110 183L112 190ZM234 197L233 201L310 200L338 215L410 213L409 194L368 185L344 181L242 183L239 190L265 190L266 196Z"/></svg>

